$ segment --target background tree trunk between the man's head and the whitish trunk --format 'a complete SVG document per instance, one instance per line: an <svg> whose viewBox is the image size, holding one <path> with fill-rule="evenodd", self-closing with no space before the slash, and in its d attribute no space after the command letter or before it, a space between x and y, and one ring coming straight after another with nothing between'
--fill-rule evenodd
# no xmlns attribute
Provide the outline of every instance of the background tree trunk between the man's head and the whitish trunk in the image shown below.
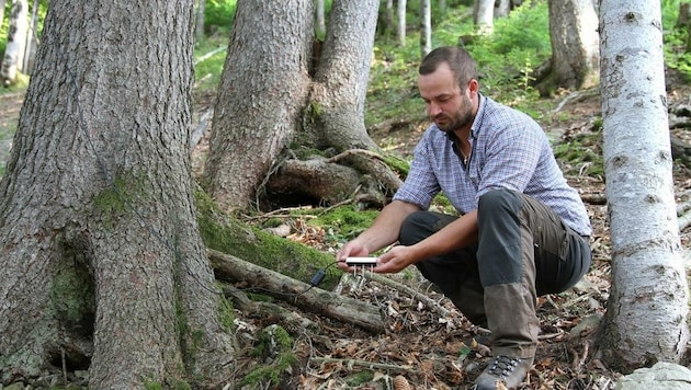
<svg viewBox="0 0 691 390"><path fill-rule="evenodd" d="M599 81L598 15L591 0L550 0L551 71L537 90L580 90Z"/></svg>

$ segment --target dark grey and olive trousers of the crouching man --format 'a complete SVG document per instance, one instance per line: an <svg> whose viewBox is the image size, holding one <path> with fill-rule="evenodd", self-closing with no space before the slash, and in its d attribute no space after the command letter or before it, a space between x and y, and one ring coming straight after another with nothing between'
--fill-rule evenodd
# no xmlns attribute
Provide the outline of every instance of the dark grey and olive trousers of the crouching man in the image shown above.
<svg viewBox="0 0 691 390"><path fill-rule="evenodd" d="M401 226L399 242L419 242L456 218L414 213ZM589 240L541 202L508 190L480 197L478 229L477 244L417 266L471 322L491 331L494 354L533 357L537 296L562 292L586 274Z"/></svg>

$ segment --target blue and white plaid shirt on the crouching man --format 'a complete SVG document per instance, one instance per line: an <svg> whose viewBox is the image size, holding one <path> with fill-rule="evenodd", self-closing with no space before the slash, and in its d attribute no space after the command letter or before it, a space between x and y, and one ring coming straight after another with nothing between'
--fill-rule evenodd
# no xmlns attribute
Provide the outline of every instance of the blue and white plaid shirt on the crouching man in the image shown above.
<svg viewBox="0 0 691 390"><path fill-rule="evenodd" d="M477 208L483 194L508 188L552 207L577 233L592 233L580 196L566 183L545 133L530 116L480 95L467 167L454 151L453 138L437 125L424 131L395 200L428 209L441 191L466 214Z"/></svg>

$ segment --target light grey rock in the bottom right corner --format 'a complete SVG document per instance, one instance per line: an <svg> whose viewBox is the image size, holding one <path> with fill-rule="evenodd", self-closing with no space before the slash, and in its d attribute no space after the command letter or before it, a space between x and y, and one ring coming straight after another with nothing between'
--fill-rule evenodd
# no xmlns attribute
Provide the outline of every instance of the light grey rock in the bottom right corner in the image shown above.
<svg viewBox="0 0 691 390"><path fill-rule="evenodd" d="M615 390L684 390L691 389L691 370L659 362L650 368L638 368L616 381Z"/></svg>

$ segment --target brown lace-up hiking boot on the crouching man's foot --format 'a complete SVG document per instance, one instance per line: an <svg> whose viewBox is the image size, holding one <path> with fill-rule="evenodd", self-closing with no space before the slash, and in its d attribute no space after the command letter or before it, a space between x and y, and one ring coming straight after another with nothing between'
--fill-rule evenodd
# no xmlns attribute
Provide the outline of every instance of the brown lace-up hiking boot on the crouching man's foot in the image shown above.
<svg viewBox="0 0 691 390"><path fill-rule="evenodd" d="M475 390L516 389L528 375L533 358L499 355L491 359L487 368L475 380ZM503 385L503 387L502 387Z"/></svg>

